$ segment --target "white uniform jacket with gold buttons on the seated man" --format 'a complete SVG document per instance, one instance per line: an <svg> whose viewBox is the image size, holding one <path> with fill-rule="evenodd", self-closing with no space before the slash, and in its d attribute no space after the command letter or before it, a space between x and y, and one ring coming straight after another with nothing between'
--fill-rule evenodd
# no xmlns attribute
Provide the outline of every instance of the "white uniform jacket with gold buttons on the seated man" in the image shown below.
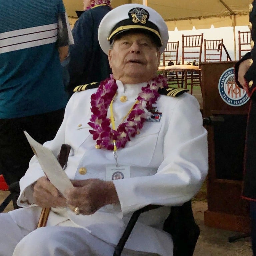
<svg viewBox="0 0 256 256"><path fill-rule="evenodd" d="M116 126L146 83L124 86L117 81L117 85L113 103ZM70 179L105 180L108 177L106 166L115 164L113 151L96 149L96 142L89 133L90 96L96 90L76 92L71 97L56 137L45 143L56 156L63 143L72 147L65 169ZM119 100L122 95L127 96L127 102ZM85 232L117 244L135 210L148 204L181 205L199 191L208 171L208 150L198 101L187 93L177 98L160 95L155 106L162 113L160 122L146 121L140 134L118 150L118 163L130 166L129 178L113 181L120 205L107 205L92 215L75 215L68 209L55 209L50 213L48 225L70 219L75 226L84 227ZM86 174L79 173L81 167L87 169ZM18 204L26 208L10 212L14 221L26 229L35 228L35 224L28 220L37 221L41 211L41 208L33 207L31 184L43 175L34 156L20 181ZM22 215L22 211L26 214ZM169 212L169 207L161 207L142 214L125 247L170 255L173 248L171 236L161 230Z"/></svg>

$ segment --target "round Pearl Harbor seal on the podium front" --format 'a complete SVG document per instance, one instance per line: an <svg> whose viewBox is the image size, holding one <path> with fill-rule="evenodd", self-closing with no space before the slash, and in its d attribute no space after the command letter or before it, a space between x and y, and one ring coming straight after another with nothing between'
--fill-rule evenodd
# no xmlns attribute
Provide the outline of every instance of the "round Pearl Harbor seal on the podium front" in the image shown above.
<svg viewBox="0 0 256 256"><path fill-rule="evenodd" d="M236 84L234 68L229 68L222 73L218 88L220 97L230 106L242 106L250 99L246 91Z"/></svg>

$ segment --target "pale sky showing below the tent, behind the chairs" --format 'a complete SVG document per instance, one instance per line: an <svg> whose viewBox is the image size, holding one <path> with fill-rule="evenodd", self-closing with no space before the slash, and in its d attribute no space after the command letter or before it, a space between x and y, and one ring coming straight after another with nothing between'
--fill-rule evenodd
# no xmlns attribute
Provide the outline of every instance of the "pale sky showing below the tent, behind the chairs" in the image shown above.
<svg viewBox="0 0 256 256"><path fill-rule="evenodd" d="M238 31L250 31L248 26L237 26L236 27L236 55L238 59ZM180 30L177 28L174 31L169 31L169 41L178 41L179 40L179 56L181 56L181 35L197 35L204 34L204 39L206 40L216 40L223 38L223 44L226 46L227 51L232 60L235 60L234 57L234 35L233 27L223 27L223 28L214 28L213 25L209 29L195 29L192 30ZM226 53L223 50L222 60L226 60ZM203 61L203 56L202 56Z"/></svg>

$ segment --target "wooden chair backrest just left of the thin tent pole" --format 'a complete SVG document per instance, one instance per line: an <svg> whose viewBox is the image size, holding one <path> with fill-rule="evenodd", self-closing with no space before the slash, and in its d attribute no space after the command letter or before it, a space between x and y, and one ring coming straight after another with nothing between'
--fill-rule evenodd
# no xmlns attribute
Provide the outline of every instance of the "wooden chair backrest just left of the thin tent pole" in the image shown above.
<svg viewBox="0 0 256 256"><path fill-rule="evenodd" d="M218 40L204 39L204 62L221 61L223 38Z"/></svg>

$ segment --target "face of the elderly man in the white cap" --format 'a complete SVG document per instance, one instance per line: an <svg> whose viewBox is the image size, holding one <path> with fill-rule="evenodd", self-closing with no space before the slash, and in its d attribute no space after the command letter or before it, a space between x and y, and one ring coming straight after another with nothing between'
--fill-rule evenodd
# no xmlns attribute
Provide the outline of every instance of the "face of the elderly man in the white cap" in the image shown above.
<svg viewBox="0 0 256 256"><path fill-rule="evenodd" d="M135 84L156 76L160 55L148 35L129 33L114 42L108 59L116 80Z"/></svg>

